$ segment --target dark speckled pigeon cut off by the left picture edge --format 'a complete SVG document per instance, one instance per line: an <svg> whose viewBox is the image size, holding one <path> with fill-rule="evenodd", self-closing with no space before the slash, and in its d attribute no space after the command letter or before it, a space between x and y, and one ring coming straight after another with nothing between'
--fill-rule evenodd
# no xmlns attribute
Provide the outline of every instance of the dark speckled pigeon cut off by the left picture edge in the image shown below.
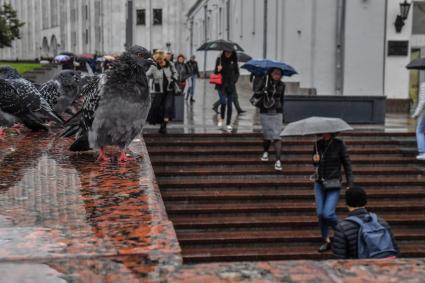
<svg viewBox="0 0 425 283"><path fill-rule="evenodd" d="M11 67L0 68L0 110L33 131L47 130L43 119L63 124L62 118L53 112L35 86Z"/></svg>

